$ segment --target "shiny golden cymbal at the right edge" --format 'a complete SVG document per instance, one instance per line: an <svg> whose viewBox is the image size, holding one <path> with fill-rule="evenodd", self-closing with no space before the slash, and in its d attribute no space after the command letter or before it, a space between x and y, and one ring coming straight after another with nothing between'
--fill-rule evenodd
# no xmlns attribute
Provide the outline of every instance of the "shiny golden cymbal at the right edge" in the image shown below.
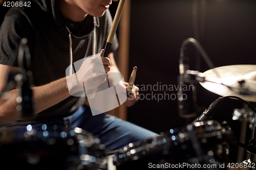
<svg viewBox="0 0 256 170"><path fill-rule="evenodd" d="M200 84L213 93L221 96L238 96L247 102L256 102L256 65L216 67L205 71L202 76L206 82ZM244 83L241 83L242 80ZM241 94L241 84L243 89L247 89L247 93Z"/></svg>

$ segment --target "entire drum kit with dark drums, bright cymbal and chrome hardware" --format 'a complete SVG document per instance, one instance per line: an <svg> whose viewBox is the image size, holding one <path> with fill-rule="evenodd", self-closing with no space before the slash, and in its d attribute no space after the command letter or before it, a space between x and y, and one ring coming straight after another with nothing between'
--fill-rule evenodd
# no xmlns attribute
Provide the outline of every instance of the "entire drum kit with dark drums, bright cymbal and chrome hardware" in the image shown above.
<svg viewBox="0 0 256 170"><path fill-rule="evenodd" d="M1 162L11 169L228 169L245 166L253 169L256 162L255 108L248 102L256 102L256 65L228 65L200 73L188 70L182 64L181 76L187 74L190 80L199 81L207 90L222 96L191 124L130 143L117 151L105 149L97 136L80 128L68 131L44 124L33 129L28 125L27 130L0 134ZM243 123L240 141L234 137L227 122L211 119L225 98L238 99L248 106L233 112L233 120L239 119ZM186 116L189 114L194 111ZM253 129L250 145L244 144L248 122ZM231 166L229 143L240 147L240 160L244 149L251 154L250 159Z"/></svg>

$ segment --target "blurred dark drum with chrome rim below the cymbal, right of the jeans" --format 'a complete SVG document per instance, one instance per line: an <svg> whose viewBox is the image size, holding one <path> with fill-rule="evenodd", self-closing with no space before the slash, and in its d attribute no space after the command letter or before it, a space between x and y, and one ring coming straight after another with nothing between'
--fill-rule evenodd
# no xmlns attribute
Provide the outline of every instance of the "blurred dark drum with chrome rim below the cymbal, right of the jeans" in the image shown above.
<svg viewBox="0 0 256 170"><path fill-rule="evenodd" d="M116 153L114 164L117 169L219 169L228 162L230 140L234 138L227 125L215 120L198 122L130 143Z"/></svg>

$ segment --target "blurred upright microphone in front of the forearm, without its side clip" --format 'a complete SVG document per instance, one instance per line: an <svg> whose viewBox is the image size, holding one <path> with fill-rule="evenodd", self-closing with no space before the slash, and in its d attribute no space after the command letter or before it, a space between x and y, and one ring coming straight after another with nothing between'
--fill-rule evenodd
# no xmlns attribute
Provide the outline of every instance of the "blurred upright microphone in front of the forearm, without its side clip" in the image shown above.
<svg viewBox="0 0 256 170"><path fill-rule="evenodd" d="M17 84L20 87L19 96L16 101L18 103L16 109L20 112L20 117L28 118L34 115L33 108L33 92L30 88L32 85L32 71L30 52L27 45L27 39L23 38L18 47L18 66L21 68L19 77L16 78Z"/></svg>

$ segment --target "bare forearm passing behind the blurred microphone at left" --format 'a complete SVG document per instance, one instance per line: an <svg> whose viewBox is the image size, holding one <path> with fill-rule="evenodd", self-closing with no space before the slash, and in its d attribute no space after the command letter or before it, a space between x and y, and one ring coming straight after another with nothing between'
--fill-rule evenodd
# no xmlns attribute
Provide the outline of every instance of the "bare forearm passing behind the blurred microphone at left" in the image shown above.
<svg viewBox="0 0 256 170"><path fill-rule="evenodd" d="M35 114L53 106L70 96L66 78L51 82L44 86L32 88ZM18 90L8 92L7 99L0 100L0 123L20 119L16 111Z"/></svg>

